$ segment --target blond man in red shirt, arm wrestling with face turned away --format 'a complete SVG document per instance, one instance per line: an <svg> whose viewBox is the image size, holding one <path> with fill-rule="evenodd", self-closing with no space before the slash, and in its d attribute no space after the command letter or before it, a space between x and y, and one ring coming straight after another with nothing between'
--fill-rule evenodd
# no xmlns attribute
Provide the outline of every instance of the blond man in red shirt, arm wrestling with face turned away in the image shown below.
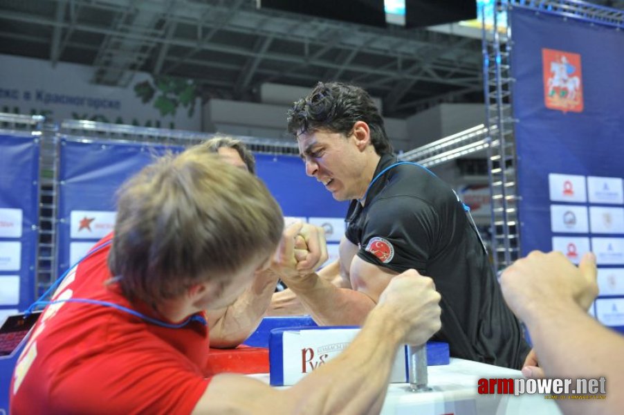
<svg viewBox="0 0 624 415"><path fill-rule="evenodd" d="M283 228L266 187L206 149L145 167L120 190L114 233L39 317L12 414L378 412L398 346L440 328L439 295L413 270L393 279L345 353L290 389L203 371L209 344L235 344L257 324L278 277L326 259L318 229Z"/></svg>

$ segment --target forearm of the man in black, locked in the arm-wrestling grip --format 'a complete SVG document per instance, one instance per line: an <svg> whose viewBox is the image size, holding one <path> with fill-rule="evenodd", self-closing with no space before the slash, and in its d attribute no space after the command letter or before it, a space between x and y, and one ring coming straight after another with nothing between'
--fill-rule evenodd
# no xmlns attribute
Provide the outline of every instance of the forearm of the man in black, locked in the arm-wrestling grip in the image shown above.
<svg viewBox="0 0 624 415"><path fill-rule="evenodd" d="M322 326L363 324L376 303L364 293L338 288L318 275L308 275L288 285Z"/></svg>

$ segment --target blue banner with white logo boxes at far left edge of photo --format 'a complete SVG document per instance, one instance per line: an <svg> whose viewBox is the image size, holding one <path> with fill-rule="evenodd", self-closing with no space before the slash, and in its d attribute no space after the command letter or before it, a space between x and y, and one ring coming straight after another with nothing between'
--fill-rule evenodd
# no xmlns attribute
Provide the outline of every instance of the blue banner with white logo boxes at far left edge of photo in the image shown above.
<svg viewBox="0 0 624 415"><path fill-rule="evenodd" d="M35 300L39 138L0 134L0 324Z"/></svg>

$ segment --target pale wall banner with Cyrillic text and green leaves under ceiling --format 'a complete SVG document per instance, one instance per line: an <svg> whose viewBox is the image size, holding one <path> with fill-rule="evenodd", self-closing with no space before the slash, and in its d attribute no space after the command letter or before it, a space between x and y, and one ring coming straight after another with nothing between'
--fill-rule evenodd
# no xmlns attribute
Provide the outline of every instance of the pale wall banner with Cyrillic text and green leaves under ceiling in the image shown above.
<svg viewBox="0 0 624 415"><path fill-rule="evenodd" d="M201 131L196 82L135 72L127 86L93 84L93 67L0 55L0 111Z"/></svg>

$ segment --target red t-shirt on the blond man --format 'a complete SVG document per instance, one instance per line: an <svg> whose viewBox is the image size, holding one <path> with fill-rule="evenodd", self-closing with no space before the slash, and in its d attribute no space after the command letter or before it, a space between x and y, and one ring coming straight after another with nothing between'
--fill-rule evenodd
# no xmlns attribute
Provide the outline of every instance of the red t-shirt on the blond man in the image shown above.
<svg viewBox="0 0 624 415"><path fill-rule="evenodd" d="M149 313L145 304L130 304L117 284L105 284L109 250L84 259L53 299L98 299ZM47 306L17 362L10 412L189 414L208 386L210 374L201 369L208 344L201 322L167 329L107 306Z"/></svg>

